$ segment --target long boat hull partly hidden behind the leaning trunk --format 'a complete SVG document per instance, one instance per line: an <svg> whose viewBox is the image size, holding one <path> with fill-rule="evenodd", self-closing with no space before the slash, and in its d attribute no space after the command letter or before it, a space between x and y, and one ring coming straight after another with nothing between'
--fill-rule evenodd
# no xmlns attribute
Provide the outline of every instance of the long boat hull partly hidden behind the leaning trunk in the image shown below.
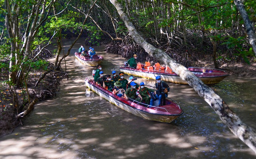
<svg viewBox="0 0 256 159"><path fill-rule="evenodd" d="M205 84L216 84L222 81L225 77L228 76L223 70L214 69L214 68L199 68L199 67L189 67L196 77L201 79ZM175 84L188 84L186 81L183 81L176 73L167 73L155 70L147 69L135 69L133 67L123 66L120 67L120 71L124 72L130 76L138 76L142 78L156 79L156 76L160 76L162 81L167 81Z"/></svg>

